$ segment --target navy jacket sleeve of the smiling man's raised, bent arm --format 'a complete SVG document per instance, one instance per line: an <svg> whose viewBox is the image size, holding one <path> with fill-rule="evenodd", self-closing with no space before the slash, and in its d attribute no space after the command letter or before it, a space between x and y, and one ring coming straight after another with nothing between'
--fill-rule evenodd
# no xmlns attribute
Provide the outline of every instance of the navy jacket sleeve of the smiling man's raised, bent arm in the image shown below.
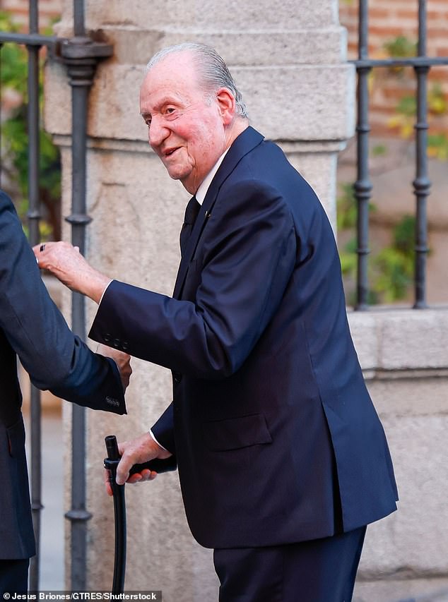
<svg viewBox="0 0 448 602"><path fill-rule="evenodd" d="M194 299L179 301L113 281L89 336L126 342L131 355L199 378L237 371L293 272L293 219L273 188L241 182L217 201L200 247L188 275L198 281Z"/></svg>

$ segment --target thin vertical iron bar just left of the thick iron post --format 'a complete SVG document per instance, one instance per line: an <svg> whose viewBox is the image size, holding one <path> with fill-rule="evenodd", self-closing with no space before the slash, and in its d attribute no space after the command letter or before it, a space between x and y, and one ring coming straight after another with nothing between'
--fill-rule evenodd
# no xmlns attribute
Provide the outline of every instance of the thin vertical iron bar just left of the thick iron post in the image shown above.
<svg viewBox="0 0 448 602"><path fill-rule="evenodd" d="M38 33L37 0L29 2L29 32ZM39 51L40 47L28 45L28 224L30 243L40 241L39 221ZM36 555L30 562L30 589L39 589L40 517L42 510L42 437L40 391L31 386L31 508L36 539Z"/></svg>

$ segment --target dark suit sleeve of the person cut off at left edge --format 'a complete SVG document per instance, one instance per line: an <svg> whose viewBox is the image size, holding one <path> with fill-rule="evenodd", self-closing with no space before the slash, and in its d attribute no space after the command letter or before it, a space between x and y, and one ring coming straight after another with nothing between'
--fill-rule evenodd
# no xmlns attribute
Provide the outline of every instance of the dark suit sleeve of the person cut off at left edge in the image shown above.
<svg viewBox="0 0 448 602"><path fill-rule="evenodd" d="M69 330L42 282L16 210L1 192L0 327L37 387L82 406L126 414L116 364Z"/></svg>

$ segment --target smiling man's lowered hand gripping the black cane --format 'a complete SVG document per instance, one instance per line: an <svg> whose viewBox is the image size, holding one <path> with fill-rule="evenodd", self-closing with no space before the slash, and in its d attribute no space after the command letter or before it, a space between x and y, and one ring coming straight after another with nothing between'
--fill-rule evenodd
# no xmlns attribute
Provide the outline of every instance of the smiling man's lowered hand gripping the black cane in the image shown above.
<svg viewBox="0 0 448 602"><path fill-rule="evenodd" d="M117 466L117 484L124 483L142 483L143 481L153 481L157 476L155 471L145 469L129 476L129 470L134 464L143 464L154 458L165 459L172 454L160 447L149 433L143 433L140 437L131 441L124 441L118 444L119 454L122 459ZM109 483L109 472L105 471L105 486L108 495L112 495L112 488Z"/></svg>

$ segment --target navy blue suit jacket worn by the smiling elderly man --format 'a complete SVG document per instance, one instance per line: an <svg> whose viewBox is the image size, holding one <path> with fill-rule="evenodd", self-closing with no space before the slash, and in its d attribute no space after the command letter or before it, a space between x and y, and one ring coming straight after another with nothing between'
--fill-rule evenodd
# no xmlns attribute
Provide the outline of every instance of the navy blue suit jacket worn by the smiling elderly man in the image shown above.
<svg viewBox="0 0 448 602"><path fill-rule="evenodd" d="M331 226L253 128L213 178L173 298L114 281L90 337L173 371L174 402L153 431L177 456L202 545L321 538L396 509Z"/></svg>

